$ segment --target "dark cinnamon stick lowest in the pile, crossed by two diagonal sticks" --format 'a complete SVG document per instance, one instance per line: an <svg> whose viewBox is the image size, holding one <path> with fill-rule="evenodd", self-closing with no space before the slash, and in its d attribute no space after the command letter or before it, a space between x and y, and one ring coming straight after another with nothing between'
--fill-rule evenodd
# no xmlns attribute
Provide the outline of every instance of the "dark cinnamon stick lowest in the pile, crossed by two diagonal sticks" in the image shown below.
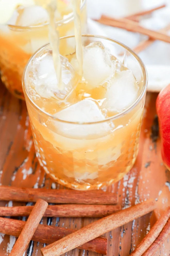
<svg viewBox="0 0 170 256"><path fill-rule="evenodd" d="M0 233L19 237L25 221L14 220L0 217ZM69 228L38 225L32 240L35 242L51 244L73 233L75 230ZM88 250L106 255L107 254L107 239L103 237L97 237L86 244L79 247L82 250Z"/></svg>

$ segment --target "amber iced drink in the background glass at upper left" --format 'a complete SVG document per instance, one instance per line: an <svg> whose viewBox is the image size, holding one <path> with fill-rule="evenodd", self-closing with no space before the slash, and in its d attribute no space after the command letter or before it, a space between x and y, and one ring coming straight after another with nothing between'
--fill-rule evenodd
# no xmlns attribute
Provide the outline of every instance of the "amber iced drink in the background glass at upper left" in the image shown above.
<svg viewBox="0 0 170 256"><path fill-rule="evenodd" d="M61 37L73 35L74 18L70 0L58 0L57 2L59 34ZM80 11L82 32L86 33L86 0L81 0ZM0 24L1 79L16 97L24 99L22 74L27 61L39 47L48 41L48 15L41 6L19 6L7 24ZM65 45L61 45L62 47L66 47L69 51L72 43L69 45L65 42Z"/></svg>

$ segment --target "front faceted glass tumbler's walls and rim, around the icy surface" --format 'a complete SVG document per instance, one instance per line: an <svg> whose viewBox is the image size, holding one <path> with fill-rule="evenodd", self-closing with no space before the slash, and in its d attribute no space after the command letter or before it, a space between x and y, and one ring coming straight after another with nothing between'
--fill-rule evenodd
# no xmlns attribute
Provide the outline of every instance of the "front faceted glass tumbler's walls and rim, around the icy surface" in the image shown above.
<svg viewBox="0 0 170 256"><path fill-rule="evenodd" d="M73 42L75 44L74 36L60 40L63 45L69 40L72 46ZM84 46L95 41L109 48L132 71L139 84L139 97L121 113L103 121L79 123L62 121L37 106L33 101L35 96L29 92L32 63L50 49L49 44L35 52L23 74L23 92L39 163L54 181L79 190L108 186L122 179L132 168L138 154L146 98L147 73L141 59L114 39L82 35ZM75 45L70 54L74 52Z"/></svg>

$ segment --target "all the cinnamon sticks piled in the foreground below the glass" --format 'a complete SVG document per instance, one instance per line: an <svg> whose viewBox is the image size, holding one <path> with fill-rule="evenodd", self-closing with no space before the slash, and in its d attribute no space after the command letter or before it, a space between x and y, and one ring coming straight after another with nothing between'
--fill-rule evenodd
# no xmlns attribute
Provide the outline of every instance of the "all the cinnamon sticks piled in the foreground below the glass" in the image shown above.
<svg viewBox="0 0 170 256"><path fill-rule="evenodd" d="M117 195L101 190L76 191L0 186L0 199L36 202L35 206L0 207L0 216L29 215L27 222L0 217L0 232L19 237L10 256L22 256L31 239L49 244L41 249L41 254L44 256L59 256L77 247L106 255L107 239L101 235L156 208L155 201L148 200L121 210L120 206L116 205ZM48 205L47 202L57 205ZM58 214L62 217L107 216L77 231L39 224L43 216L58 217ZM170 233L169 217L170 207L131 255L154 255Z"/></svg>

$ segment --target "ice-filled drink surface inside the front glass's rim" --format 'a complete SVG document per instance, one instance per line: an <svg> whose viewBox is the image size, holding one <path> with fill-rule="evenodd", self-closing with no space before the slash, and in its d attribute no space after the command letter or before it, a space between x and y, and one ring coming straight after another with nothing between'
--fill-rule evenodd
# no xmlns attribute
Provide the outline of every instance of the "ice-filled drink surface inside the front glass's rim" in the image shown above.
<svg viewBox="0 0 170 256"><path fill-rule="evenodd" d="M140 86L132 71L100 41L83 46L83 76L79 75L75 53L67 58L61 56L61 66L63 90L58 88L52 51L45 50L31 63L27 90L37 106L64 121L93 122L90 113L87 117L80 115L77 118L65 115L69 109L74 109L73 106L79 109L79 105L84 105L86 110L87 102L95 106L94 121L104 120L130 107L140 94Z"/></svg>

